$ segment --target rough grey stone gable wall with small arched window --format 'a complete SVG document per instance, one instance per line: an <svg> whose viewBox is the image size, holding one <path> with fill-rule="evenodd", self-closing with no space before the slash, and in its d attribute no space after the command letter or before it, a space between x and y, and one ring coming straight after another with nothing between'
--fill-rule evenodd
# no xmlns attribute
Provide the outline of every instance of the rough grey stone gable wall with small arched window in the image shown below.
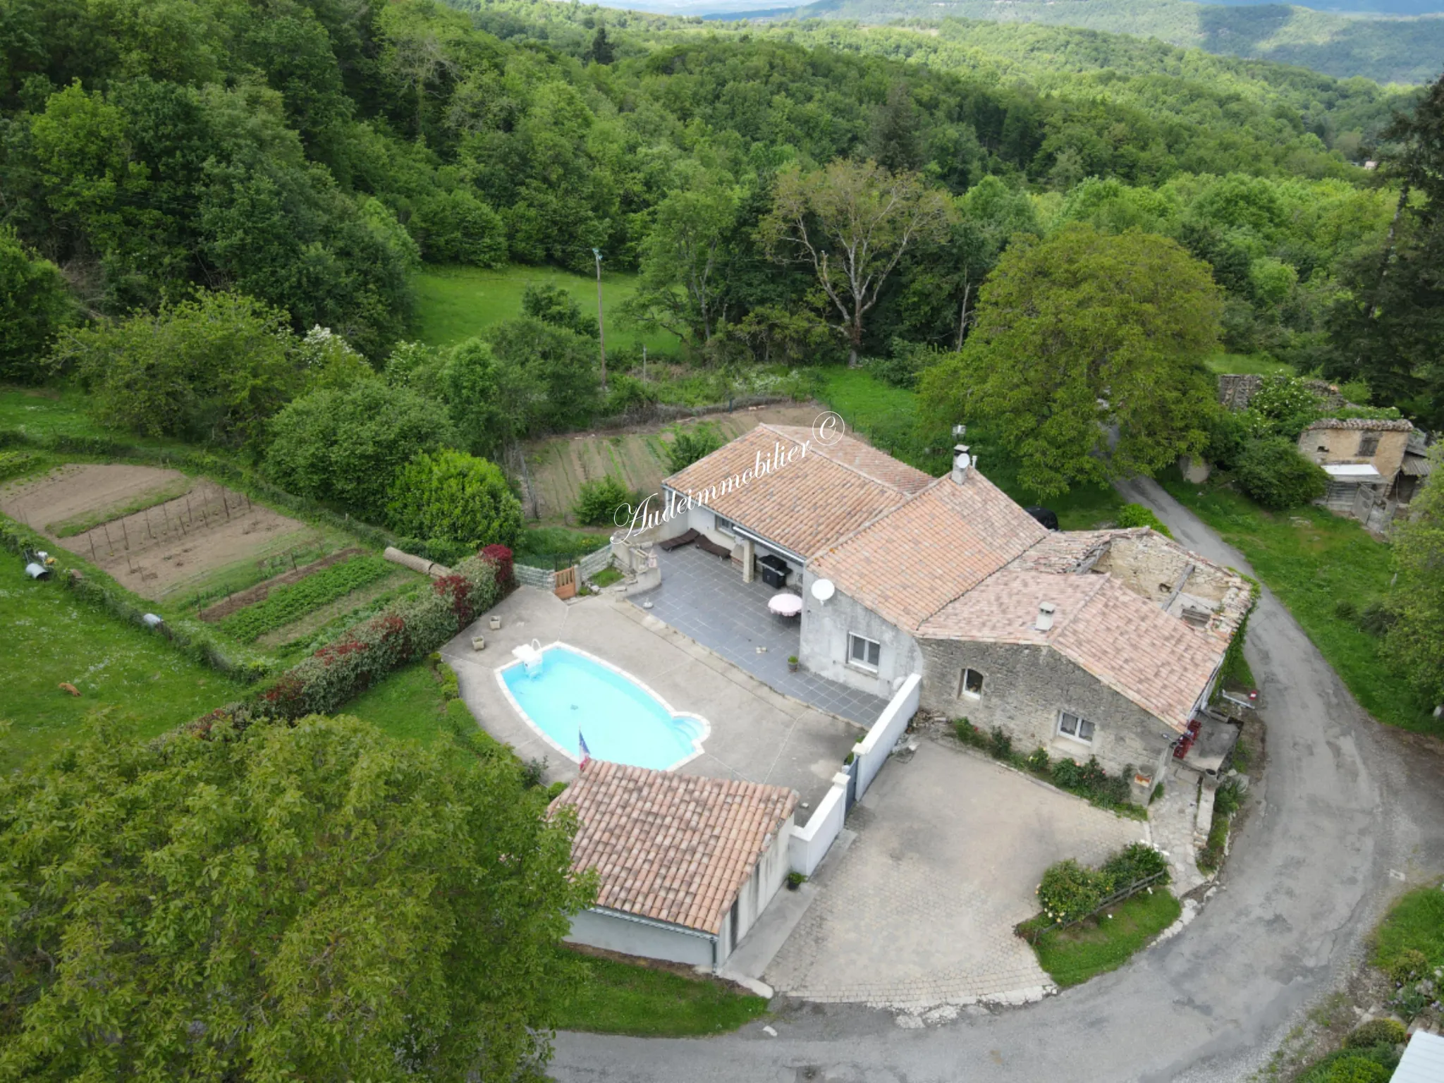
<svg viewBox="0 0 1444 1083"><path fill-rule="evenodd" d="M1079 762L1095 755L1109 774L1131 767L1157 780L1178 736L1050 647L923 640L920 650L923 706L983 731L998 726L1019 752L1041 747ZM983 674L980 696L959 695L965 667ZM1090 744L1058 732L1061 710L1093 723Z"/></svg>

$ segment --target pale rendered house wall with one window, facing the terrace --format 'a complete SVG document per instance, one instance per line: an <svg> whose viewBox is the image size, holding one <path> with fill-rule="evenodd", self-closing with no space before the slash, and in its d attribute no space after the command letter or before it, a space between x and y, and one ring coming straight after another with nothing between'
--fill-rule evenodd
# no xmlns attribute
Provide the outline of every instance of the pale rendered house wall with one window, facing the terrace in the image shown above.
<svg viewBox="0 0 1444 1083"><path fill-rule="evenodd" d="M816 580L810 569L803 576L803 632L797 654L801 664L822 677L891 699L897 683L910 673L921 673L917 640L842 591L819 602L812 592ZM848 664L849 632L881 644L877 673Z"/></svg>

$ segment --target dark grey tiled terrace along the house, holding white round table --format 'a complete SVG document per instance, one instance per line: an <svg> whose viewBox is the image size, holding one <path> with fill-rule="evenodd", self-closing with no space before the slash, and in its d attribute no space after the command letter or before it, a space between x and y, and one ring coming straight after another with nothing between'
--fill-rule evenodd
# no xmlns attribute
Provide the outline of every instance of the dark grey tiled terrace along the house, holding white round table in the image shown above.
<svg viewBox="0 0 1444 1083"><path fill-rule="evenodd" d="M670 553L658 549L657 562L661 586L632 598L638 605L651 602L653 617L803 703L862 725L872 725L882 713L885 699L806 670L787 671L787 657L797 654L801 640L801 618L767 611L767 601L778 593L774 588L761 579L744 583L731 560L695 546Z"/></svg>

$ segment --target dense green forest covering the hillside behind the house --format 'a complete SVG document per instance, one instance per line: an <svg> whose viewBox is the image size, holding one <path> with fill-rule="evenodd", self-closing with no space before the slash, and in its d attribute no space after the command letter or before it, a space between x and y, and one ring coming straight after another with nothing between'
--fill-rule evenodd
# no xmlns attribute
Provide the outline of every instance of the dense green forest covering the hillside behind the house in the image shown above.
<svg viewBox="0 0 1444 1083"><path fill-rule="evenodd" d="M1038 56L1040 27L978 27L970 43L956 25L924 51L905 30L842 23L462 9L4 0L0 244L25 283L6 374L75 374L105 388L113 422L146 427L155 407L126 397L143 381L114 358L144 357L136 319L160 312L329 329L328 358L391 358L396 380L445 397L439 360L394 354L422 261L589 270L593 251L641 273L621 315L676 332L689 362L914 358L905 368L962 345L1014 238L1070 224L1171 238L1222 287L1229 349L1310 371L1330 362L1349 267L1402 206L1356 163L1389 152L1380 133L1417 95L1363 79L1086 32L1045 30L1067 48ZM852 172L827 172L838 163ZM931 224L842 296L840 261L817 264L827 243L780 217L784 188L816 222L849 185L894 180ZM186 300L196 289L256 308ZM534 300L487 344L529 368L487 377L526 407L474 451L644 394L625 378L592 390L595 374L576 386L585 321ZM95 338L127 315L129 338ZM59 326L97 319L49 348ZM292 354L315 365L306 342ZM243 396L245 417L211 401L152 427L253 439L308 386L266 381L192 388ZM1417 387L1393 397L1406 406Z"/></svg>

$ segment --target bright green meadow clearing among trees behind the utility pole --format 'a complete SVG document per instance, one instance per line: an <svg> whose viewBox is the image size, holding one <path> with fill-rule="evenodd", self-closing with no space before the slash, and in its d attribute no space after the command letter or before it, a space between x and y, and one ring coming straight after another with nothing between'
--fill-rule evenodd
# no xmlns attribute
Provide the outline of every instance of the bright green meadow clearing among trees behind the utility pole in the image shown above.
<svg viewBox="0 0 1444 1083"><path fill-rule="evenodd" d="M416 329L423 342L448 347L484 331L492 323L521 315L521 290L529 284L552 283L576 297L582 312L596 315L596 279L570 274L556 267L527 267L514 263L505 270L481 267L427 267L416 276ZM612 312L637 292L637 276L602 271L604 322L608 347L645 345L651 354L673 354L677 336L641 335L624 328Z"/></svg>

